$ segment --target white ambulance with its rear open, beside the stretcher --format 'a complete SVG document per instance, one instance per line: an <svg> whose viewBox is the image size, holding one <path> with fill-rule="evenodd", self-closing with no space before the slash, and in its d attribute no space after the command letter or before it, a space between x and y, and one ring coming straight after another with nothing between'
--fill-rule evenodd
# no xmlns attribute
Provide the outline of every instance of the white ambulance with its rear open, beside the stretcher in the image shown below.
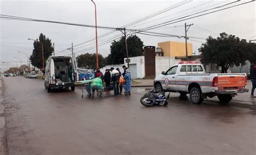
<svg viewBox="0 0 256 155"><path fill-rule="evenodd" d="M71 87L75 90L77 71L75 61L67 56L50 56L46 61L44 87L48 92L52 88Z"/></svg>

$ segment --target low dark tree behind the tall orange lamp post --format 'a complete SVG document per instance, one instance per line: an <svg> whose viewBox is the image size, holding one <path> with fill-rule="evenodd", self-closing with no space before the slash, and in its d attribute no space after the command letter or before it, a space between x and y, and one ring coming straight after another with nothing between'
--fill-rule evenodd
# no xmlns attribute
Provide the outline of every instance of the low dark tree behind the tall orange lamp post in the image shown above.
<svg viewBox="0 0 256 155"><path fill-rule="evenodd" d="M101 55L98 54L99 59L99 68L102 68L106 66L106 59ZM96 68L96 53L90 54L85 53L82 55L79 55L77 57L77 66L80 68L86 68L86 69L97 69Z"/></svg>

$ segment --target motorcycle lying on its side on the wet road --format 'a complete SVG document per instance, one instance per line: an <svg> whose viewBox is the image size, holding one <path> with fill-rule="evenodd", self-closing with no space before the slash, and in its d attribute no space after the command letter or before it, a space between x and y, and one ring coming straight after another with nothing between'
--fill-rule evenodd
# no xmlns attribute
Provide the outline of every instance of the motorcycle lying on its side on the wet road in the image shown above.
<svg viewBox="0 0 256 155"><path fill-rule="evenodd" d="M156 93L154 89L150 90L140 98L140 103L145 107L153 107L154 105L165 106L168 104L170 93L165 97L165 91Z"/></svg>

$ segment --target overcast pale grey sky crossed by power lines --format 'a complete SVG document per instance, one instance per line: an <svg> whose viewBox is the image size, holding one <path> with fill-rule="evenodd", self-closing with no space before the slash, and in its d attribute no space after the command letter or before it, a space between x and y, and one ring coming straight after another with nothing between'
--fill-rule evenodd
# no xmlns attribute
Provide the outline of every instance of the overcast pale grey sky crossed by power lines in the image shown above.
<svg viewBox="0 0 256 155"><path fill-rule="evenodd" d="M151 25L167 22L184 16L192 15L200 11L211 9L227 3L225 1L94 1L97 6L97 25L108 27L126 27L126 29L139 30ZM228 6L241 4L250 1L240 1ZM181 22L169 24L157 29L148 30L150 32L173 34L185 36L184 24L193 24L187 31L188 43L193 44L193 51L198 54L198 48L205 43L208 36L214 38L219 33L226 32L241 39L256 39L256 2L236 6L227 10L214 12L205 16L187 19ZM224 8L226 8L224 7ZM163 11L164 9L169 9ZM223 8L221 8L223 9ZM159 11L163 12L159 12ZM214 11L214 10L211 10ZM159 12L159 15L151 16ZM207 11L210 12L210 11ZM57 22L67 22L76 24L95 25L95 6L90 0L84 1L5 1L0 0L1 15L19 16ZM204 12L206 13L206 12ZM200 15L199 13L197 15ZM194 15L196 16L196 15ZM146 18L148 17L148 18ZM149 18L151 17L151 18ZM190 16L192 17L192 16ZM146 19L146 20L139 20ZM174 20L178 21L178 20ZM130 24L132 23L132 25ZM129 25L130 24L130 25ZM127 26L129 25L129 26ZM110 54L110 43L114 36L119 36L120 31L98 30L98 52L106 57ZM27 64L26 54L18 53L22 51L30 55L33 50L33 41L28 38L37 39L43 33L55 43L56 55L70 54L65 50L73 43L76 55L83 53L96 53L95 47L95 27L82 27L73 25L63 25L42 22L26 22L18 20L4 20L0 18L0 68L14 67L14 61L20 61L14 57L22 59L22 64ZM127 31L127 34L130 34ZM100 36L105 35L103 38ZM184 38L177 37L157 37L144 34L136 35L142 39L145 46L157 46L163 41L185 42ZM117 37L116 37L117 38ZM91 40L91 41L90 41ZM118 40L118 39L117 39ZM76 46L80 43L85 44ZM105 41L105 42L104 42ZM104 44L104 45L102 45ZM62 51L62 52L60 52ZM9 63L3 65L1 62ZM20 62L19 62L20 63ZM19 65L19 64L18 64ZM0 69L1 70L1 69Z"/></svg>

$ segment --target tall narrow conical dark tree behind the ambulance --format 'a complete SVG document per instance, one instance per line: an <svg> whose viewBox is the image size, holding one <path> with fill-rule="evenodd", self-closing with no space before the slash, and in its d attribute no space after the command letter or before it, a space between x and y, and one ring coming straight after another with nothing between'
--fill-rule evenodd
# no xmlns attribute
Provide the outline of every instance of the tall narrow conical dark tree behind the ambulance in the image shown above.
<svg viewBox="0 0 256 155"><path fill-rule="evenodd" d="M53 52L53 47L51 44L51 40L49 38L46 38L43 33L39 35L39 40L36 39L34 41L33 46L33 52L30 55L30 61L31 64L37 68L43 68L43 59L42 59L42 44L43 43L43 51L44 51L44 67L46 65L46 60L50 57L50 55Z"/></svg>

